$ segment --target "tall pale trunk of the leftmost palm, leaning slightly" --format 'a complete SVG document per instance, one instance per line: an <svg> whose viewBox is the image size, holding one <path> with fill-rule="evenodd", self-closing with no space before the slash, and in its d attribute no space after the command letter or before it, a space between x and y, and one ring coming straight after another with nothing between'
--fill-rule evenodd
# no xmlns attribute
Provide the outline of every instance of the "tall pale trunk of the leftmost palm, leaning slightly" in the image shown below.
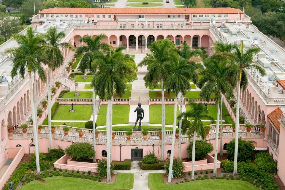
<svg viewBox="0 0 285 190"><path fill-rule="evenodd" d="M34 77L36 76L34 75ZM30 85L30 103L31 103L31 111L32 111L32 119L33 119L33 131L34 131L34 139L35 139L36 167L37 167L37 173L40 173L41 171L39 168L39 145L37 143L38 141L37 116L36 116L35 105L34 105L34 94L33 94L32 73L31 72L29 72L29 85Z"/></svg>

